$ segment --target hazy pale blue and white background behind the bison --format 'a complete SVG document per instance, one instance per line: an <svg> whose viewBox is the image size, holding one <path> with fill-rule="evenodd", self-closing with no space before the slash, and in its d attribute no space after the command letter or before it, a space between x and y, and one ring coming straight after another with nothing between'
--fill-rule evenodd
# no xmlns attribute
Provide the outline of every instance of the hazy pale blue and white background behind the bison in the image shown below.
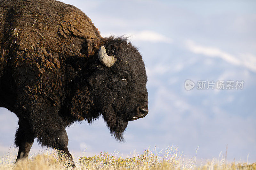
<svg viewBox="0 0 256 170"><path fill-rule="evenodd" d="M123 155L155 145L178 146L185 157L256 160L255 1L64 0L84 11L102 36L125 35L139 47L148 74L148 115L129 122L125 142L103 119L67 128L76 156ZM184 82L244 80L243 90L190 90ZM0 109L0 155L9 151L17 117ZM36 143L32 152L42 150Z"/></svg>

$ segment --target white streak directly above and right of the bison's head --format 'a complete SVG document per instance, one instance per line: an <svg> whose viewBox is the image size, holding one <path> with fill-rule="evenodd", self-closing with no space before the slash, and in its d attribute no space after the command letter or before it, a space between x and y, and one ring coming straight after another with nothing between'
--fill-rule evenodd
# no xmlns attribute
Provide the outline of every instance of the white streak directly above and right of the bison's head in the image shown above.
<svg viewBox="0 0 256 170"><path fill-rule="evenodd" d="M164 43L171 43L172 39L169 37L166 37L160 33L154 32L154 31L140 31L140 32L132 32L132 33L101 33L103 37L108 37L110 35L114 36L120 36L124 35L126 37L129 37L131 41L147 41L147 42L164 42Z"/></svg>

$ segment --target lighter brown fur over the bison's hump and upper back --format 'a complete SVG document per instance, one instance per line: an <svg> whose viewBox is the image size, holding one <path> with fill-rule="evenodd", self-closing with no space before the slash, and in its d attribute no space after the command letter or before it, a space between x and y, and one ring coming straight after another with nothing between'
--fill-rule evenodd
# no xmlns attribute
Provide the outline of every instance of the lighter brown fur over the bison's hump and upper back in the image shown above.
<svg viewBox="0 0 256 170"><path fill-rule="evenodd" d="M99 48L100 32L75 6L54 0L1 0L0 4L0 77L7 62L15 67L16 63L30 63L26 55L37 61L48 56L50 60L88 58ZM18 58L10 58L13 51ZM52 63L59 66L57 61Z"/></svg>

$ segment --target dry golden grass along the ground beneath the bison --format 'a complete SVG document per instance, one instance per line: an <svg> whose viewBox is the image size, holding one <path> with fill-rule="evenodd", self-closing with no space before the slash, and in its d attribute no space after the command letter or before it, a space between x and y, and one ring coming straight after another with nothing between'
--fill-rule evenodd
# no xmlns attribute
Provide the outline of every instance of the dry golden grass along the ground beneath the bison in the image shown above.
<svg viewBox="0 0 256 170"><path fill-rule="evenodd" d="M41 169L72 169L69 161L56 151L38 154L14 164L16 154L8 154L1 158L0 169L9 170L41 170ZM188 169L188 170L210 170L210 169L256 169L256 163L227 163L225 158L202 161L196 164L196 156L185 159L177 149L168 148L165 152L157 149L148 149L139 155L122 158L116 154L101 152L92 157L75 158L76 169L99 170L99 169Z"/></svg>

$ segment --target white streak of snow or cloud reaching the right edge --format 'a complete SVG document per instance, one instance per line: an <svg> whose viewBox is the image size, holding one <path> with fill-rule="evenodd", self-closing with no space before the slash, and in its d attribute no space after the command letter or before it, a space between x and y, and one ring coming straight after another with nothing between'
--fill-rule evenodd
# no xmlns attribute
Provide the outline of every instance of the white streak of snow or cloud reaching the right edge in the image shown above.
<svg viewBox="0 0 256 170"><path fill-rule="evenodd" d="M220 50L216 47L207 47L196 44L194 41L187 40L186 41L187 48L196 54L203 54L209 57L217 57L222 60L233 64L233 65L241 65L253 72L256 72L256 56L251 54L240 54L240 56L231 55L225 51Z"/></svg>

